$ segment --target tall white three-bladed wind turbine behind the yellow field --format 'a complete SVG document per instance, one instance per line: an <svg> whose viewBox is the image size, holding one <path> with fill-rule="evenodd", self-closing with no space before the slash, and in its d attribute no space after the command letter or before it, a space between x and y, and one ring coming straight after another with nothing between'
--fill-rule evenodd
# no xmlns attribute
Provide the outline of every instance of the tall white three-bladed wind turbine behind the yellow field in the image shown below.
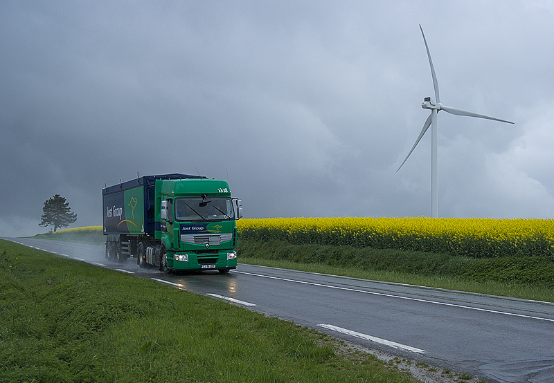
<svg viewBox="0 0 554 383"><path fill-rule="evenodd" d="M452 108L452 106L446 106L441 104L440 97L438 95L438 82L437 82L437 77L435 75L435 68L433 66L433 61L431 60L431 53L429 53L429 46L427 46L427 39L425 39L425 34L423 33L423 28L421 28L421 24L420 24L420 30L421 30L421 35L423 36L423 41L425 42L425 49L427 49L427 57L429 57L429 65L431 66L431 77L433 77L433 86L435 88L436 102L433 102L433 100L431 100L431 97L425 97L423 104L421 104L421 107L423 109L431 110L431 114L425 121L425 124L423 124L423 129L421 129L421 133L418 136L418 139L415 140L415 144L413 144L413 147L408 153L408 156L406 156L406 158L402 162L402 165L404 165L404 162L406 162L406 160L410 156L413 149L415 149L415 147L418 146L418 143L420 142L421 138L423 137L427 129L429 129L429 126L431 126L431 217L437 218L438 217L437 113L440 111L445 111L447 113L451 113L455 115L467 115L469 117L486 118L487 120L507 122L508 124L513 124L513 122L501 120L499 118L489 117L488 115L482 115L482 114L472 113L468 111L463 111L462 109ZM397 171L400 170L402 165L398 167Z"/></svg>

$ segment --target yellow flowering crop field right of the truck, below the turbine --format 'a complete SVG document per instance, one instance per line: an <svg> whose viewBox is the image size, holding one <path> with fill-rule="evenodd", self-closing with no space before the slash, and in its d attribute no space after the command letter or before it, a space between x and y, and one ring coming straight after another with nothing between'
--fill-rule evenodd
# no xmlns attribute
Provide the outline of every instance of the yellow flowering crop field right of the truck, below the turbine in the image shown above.
<svg viewBox="0 0 554 383"><path fill-rule="evenodd" d="M260 218L237 221L239 238L393 248L452 255L554 256L554 220L492 218Z"/></svg>

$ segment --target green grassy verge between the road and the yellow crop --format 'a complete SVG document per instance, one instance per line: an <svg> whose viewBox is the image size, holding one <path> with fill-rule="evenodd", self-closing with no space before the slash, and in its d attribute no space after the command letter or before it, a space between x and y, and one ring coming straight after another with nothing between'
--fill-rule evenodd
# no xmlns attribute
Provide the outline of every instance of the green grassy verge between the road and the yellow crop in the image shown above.
<svg viewBox="0 0 554 383"><path fill-rule="evenodd" d="M285 241L238 241L241 263L554 301L554 262L540 256L474 259L427 252Z"/></svg>

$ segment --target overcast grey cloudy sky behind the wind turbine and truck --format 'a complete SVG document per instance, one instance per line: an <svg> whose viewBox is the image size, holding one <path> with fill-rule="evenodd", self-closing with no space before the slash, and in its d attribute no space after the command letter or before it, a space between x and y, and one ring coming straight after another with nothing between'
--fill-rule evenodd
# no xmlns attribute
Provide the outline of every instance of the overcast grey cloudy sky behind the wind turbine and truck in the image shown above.
<svg viewBox="0 0 554 383"><path fill-rule="evenodd" d="M554 1L2 1L0 235L102 187L229 180L247 218L554 216Z"/></svg>

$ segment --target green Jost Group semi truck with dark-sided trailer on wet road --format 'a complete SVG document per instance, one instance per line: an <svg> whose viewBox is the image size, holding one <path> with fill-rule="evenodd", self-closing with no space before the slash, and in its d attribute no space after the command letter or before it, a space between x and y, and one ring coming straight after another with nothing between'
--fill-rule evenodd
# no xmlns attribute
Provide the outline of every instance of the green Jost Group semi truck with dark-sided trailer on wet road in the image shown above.
<svg viewBox="0 0 554 383"><path fill-rule="evenodd" d="M237 267L242 201L225 180L188 174L142 176L102 189L106 258L135 257L160 271Z"/></svg>

